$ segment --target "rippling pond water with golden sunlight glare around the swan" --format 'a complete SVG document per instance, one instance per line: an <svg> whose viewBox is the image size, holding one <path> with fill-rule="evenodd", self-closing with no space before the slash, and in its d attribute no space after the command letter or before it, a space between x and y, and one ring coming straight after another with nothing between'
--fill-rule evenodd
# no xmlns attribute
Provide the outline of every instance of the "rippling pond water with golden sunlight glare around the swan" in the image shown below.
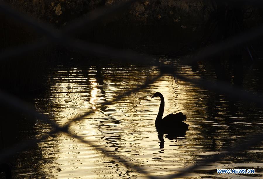
<svg viewBox="0 0 263 179"><path fill-rule="evenodd" d="M171 61L167 61L171 63ZM253 93L262 93L261 63L196 63L180 67L188 77L225 80ZM177 173L185 167L225 151L247 134L261 132L262 108L250 102L164 75L128 97L100 108L100 104L157 75L149 65L55 65L47 78L51 85L34 98L37 111L65 124L88 109L98 110L71 125L70 131L96 141L102 148L121 155L130 164L142 166L154 176ZM160 101L150 99L161 92L164 116L183 112L190 125L185 135L158 134L154 120ZM26 133L33 138L50 130L36 120ZM262 178L262 143L203 166L183 178ZM111 159L78 139L59 133L20 153L15 159L15 178L144 178L118 159ZM255 174L217 174L216 169L255 169Z"/></svg>

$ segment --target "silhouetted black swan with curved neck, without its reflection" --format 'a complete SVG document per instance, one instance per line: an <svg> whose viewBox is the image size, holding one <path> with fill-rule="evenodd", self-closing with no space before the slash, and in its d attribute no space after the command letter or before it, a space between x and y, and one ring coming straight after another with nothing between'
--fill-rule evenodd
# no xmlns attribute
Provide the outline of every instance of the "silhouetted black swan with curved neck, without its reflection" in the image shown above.
<svg viewBox="0 0 263 179"><path fill-rule="evenodd" d="M179 112L176 114L169 114L163 118L164 115L164 96L157 92L154 93L152 98L154 97L160 97L161 98L161 104L159 107L159 112L157 115L157 118L155 120L155 127L159 129L164 129L164 130L174 130L176 131L185 131L188 129L188 124L184 123L183 121L186 120L186 116L183 115L183 113ZM151 98L151 99L152 99Z"/></svg>

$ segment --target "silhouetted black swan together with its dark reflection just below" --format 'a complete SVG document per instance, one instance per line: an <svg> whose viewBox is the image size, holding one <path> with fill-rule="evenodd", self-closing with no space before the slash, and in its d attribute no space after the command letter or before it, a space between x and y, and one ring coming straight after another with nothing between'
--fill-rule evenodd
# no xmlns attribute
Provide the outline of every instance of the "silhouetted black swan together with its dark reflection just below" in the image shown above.
<svg viewBox="0 0 263 179"><path fill-rule="evenodd" d="M154 93L152 98L160 97L161 103L159 107L158 115L155 119L155 127L158 132L158 138L160 140L160 148L164 148L164 134L167 134L165 137L169 140L177 139L178 137L185 137L186 130L188 130L188 124L183 121L186 120L186 116L182 113L169 114L163 118L164 114L164 96L157 92ZM152 99L151 98L151 99Z"/></svg>

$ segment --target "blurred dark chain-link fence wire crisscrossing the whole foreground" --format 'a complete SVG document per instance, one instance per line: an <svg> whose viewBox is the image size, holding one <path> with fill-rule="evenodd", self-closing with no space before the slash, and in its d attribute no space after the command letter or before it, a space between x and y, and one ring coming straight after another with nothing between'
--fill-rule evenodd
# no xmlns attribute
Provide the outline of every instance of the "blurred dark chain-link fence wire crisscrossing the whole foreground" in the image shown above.
<svg viewBox="0 0 263 179"><path fill-rule="evenodd" d="M36 40L35 42L32 42L30 44L6 49L3 53L0 54L0 59L1 60L4 60L4 59L7 60L12 56L17 56L17 55L24 54L26 52L31 52L35 49L44 47L44 46L50 44L51 42L55 42L55 43L59 43L60 45L66 44L68 47L77 49L80 52L84 52L84 54L86 52L90 52L92 54L104 54L104 55L111 56L111 57L118 57L118 58L121 58L123 60L135 61L135 59L136 59L140 62L142 62L142 60L144 60L147 63L147 62L149 62L149 59L155 59L155 58L152 56L145 56L145 55L137 54L135 52L130 52L130 51L119 51L119 50L113 49L111 47L104 47L104 46L101 46L98 44L93 44L90 42L78 40L78 39L75 39L75 38L69 36L69 33L72 34L74 32L75 33L78 32L81 29L83 30L83 28L85 26L93 24L93 23L97 23L102 18L104 18L108 15L112 15L116 12L119 12L119 11L129 7L130 4L132 4L134 1L135 0L126 1L126 2L120 3L118 5L112 6L111 8L99 9L99 10L95 11L90 16L86 16L84 18L80 18L80 19L73 21L71 23L71 25L65 27L61 31L58 31L57 29L54 29L53 27L51 27L47 24L40 23L40 22L38 22L38 20L35 20L34 18L32 18L28 15L25 15L23 13L16 11L16 10L13 10L12 8L10 8L5 3L0 2L0 10L2 13L7 15L8 17L12 17L14 20L18 20L19 22L22 22L23 24L35 29L39 34L47 37L47 39L42 38L42 39ZM251 1L251 2L254 2L254 1ZM255 1L255 2L258 2L258 1ZM182 65L190 64L194 61L208 59L208 57L210 57L210 56L213 56L213 55L218 54L219 52L222 52L225 50L229 50L233 47L245 44L251 40L255 40L256 38L259 38L262 35L263 35L263 26L260 26L256 29L253 29L253 30L250 30L248 32L243 32L243 33L241 33L241 34L239 34L239 35L237 35L231 39L228 39L228 41L221 42L221 43L214 45L214 46L211 46L211 47L206 47L203 50L201 50L200 52L198 52L196 55L192 55L192 57L187 57L187 58L183 59ZM208 81L206 79L188 78L188 77L185 77L184 75L179 74L176 71L176 67L174 67L173 65L165 65L165 66L159 65L159 68L160 68L160 74L159 75L154 76L154 77L148 77L148 79L145 81L145 83L143 85L138 86L137 88L133 88L129 91L124 92L121 95L116 96L114 98L114 100L102 103L100 107L103 107L105 105L111 105L113 102L117 102L121 98L128 96L131 93L135 93L141 89L146 88L149 84L154 83L155 80L157 80L159 77L161 77L163 73L169 73L171 75L174 75L174 77L176 77L178 79L188 81L188 82L193 83L193 84L197 84L198 86L202 86L202 87L206 88L207 90L216 91L219 93L231 95L231 97L236 98L238 100L245 100L245 101L255 102L259 105L263 105L263 98L262 97L260 97L259 95L254 95L253 93L247 92L247 91L243 90L242 88L233 87L233 86L231 86L225 82L222 82L222 81L218 82L218 81ZM76 117L73 120L69 121L64 126L59 126L53 120L49 120L49 117L47 115L37 113L31 105L26 104L24 101L19 100L18 98L14 97L14 96L12 96L12 95L4 92L4 91L0 91L0 101L5 103L5 104L10 105L11 107L13 107L17 110L20 110L24 113L27 113L27 114L34 116L35 118L41 120L42 122L45 122L45 123L51 125L51 127L53 128L50 132L47 133L47 135L43 134L42 136L40 136L36 139L23 141L21 143L16 144L15 146L13 146L11 148L3 150L2 153L0 154L0 161L4 161L4 160L10 158L12 155L15 155L16 153L21 152L21 151L25 150L26 148L32 146L32 144L36 144L37 142L40 142L40 141L46 139L49 135L53 135L57 132L66 132L70 136L72 136L76 139L79 139L81 142L86 143L86 144L94 147L98 151L101 151L103 154L105 154L111 158L118 159L119 162L125 164L129 169L136 170L140 173L145 174L145 176L148 178L162 178L162 177L177 178L177 177L180 177L186 173L193 171L194 169L196 169L199 166L208 164L210 162L218 161L218 160L222 159L225 155L230 155L230 154L237 152L237 151L243 151L243 150L247 149L248 147L252 146L253 144L255 144L259 141L262 141L262 137L263 137L263 134L261 134L261 133L254 134L251 136L247 136L243 140L240 140L240 143L241 143L240 145L238 144L236 146L229 147L225 153L220 153L219 155L214 155L213 157L211 157L209 159L203 159L202 162L199 162L197 164L189 166L179 173L171 174L168 176L152 176L146 170L144 170L144 168L142 166L130 164L129 161L126 160L126 158L123 158L122 156L119 156L119 155L112 154L112 152L107 151L102 146L96 145L94 141L83 139L80 136L77 136L75 134L71 134L71 132L68 130L68 128L73 122L82 120L84 117L90 115L95 110L99 109L100 107L96 107L96 109L92 109L90 111L87 111L83 115Z"/></svg>

